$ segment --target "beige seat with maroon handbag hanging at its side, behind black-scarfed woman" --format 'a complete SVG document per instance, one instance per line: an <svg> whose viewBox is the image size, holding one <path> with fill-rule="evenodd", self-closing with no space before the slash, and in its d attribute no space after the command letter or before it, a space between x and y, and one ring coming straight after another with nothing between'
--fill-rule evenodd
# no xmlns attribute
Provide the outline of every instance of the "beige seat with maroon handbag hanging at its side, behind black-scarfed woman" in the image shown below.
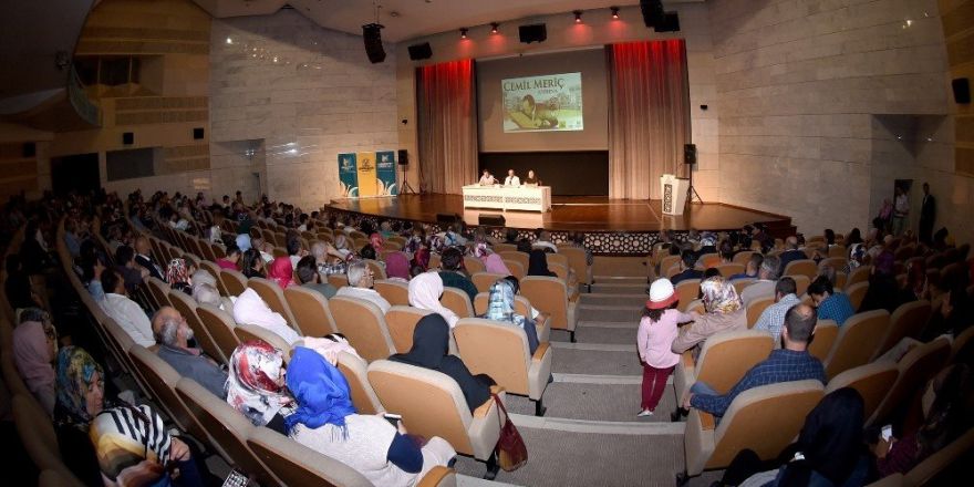
<svg viewBox="0 0 974 487"><path fill-rule="evenodd" d="M369 365L369 382L385 410L403 416L410 433L439 436L457 453L491 459L502 417L493 398L470 413L464 393L448 375L387 360Z"/></svg>

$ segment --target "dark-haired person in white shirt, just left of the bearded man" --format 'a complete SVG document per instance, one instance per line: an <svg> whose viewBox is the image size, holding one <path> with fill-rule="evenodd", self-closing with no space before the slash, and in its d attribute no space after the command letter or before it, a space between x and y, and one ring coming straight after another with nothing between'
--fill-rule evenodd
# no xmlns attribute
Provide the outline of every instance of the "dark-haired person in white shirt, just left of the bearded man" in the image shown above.
<svg viewBox="0 0 974 487"><path fill-rule="evenodd" d="M142 307L128 299L125 281L115 270L95 266L95 277L89 283L89 291L105 314L112 317L135 343L145 348L156 345L148 315Z"/></svg>

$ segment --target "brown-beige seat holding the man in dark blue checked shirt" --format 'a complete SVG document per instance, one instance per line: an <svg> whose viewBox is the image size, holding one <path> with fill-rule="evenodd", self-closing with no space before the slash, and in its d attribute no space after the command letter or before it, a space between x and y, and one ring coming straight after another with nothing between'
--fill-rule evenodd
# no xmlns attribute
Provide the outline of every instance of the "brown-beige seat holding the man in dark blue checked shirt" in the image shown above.
<svg viewBox="0 0 974 487"><path fill-rule="evenodd" d="M745 448L763 460L776 458L822 395L816 380L755 387L734 398L719 425L709 414L691 410L684 436L686 474L725 468Z"/></svg>

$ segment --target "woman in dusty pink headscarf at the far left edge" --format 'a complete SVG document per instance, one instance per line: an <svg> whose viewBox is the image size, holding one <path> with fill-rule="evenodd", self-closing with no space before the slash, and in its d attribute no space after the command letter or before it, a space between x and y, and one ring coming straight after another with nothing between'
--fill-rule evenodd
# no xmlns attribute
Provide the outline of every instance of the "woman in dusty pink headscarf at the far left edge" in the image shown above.
<svg viewBox="0 0 974 487"><path fill-rule="evenodd" d="M13 362L48 416L54 414L56 392L51 363L56 352L58 335L48 313L40 308L21 311L20 324L13 329Z"/></svg>

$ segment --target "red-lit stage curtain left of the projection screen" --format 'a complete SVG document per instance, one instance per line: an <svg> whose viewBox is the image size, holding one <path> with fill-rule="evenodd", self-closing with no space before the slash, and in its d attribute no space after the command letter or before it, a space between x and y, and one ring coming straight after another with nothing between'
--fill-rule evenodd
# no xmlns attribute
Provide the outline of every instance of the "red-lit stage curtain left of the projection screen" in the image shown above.
<svg viewBox="0 0 974 487"><path fill-rule="evenodd" d="M419 185L459 194L477 182L477 100L474 61L416 69Z"/></svg>

